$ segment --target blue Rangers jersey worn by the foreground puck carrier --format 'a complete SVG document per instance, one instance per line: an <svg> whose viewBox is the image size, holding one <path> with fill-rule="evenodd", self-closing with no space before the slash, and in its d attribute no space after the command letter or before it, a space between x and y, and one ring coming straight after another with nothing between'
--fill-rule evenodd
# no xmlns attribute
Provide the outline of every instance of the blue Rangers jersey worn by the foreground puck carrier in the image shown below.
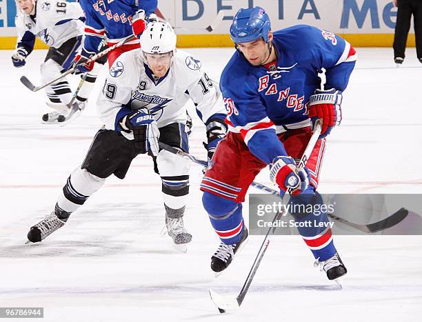
<svg viewBox="0 0 422 322"><path fill-rule="evenodd" d="M356 61L350 43L312 26L274 32L272 43L273 68L252 66L235 52L220 82L229 130L240 133L250 152L267 164L287 155L277 133L310 125L308 101L321 88L318 73L325 69L325 89L343 91Z"/></svg>

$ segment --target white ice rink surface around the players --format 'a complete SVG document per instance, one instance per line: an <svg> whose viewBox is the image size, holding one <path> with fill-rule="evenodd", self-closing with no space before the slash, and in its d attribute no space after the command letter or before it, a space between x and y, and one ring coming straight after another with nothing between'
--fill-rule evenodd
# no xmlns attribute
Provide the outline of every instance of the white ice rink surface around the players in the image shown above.
<svg viewBox="0 0 422 322"><path fill-rule="evenodd" d="M218 80L233 50L189 51ZM406 53L397 69L392 49L358 48L320 192L422 193L422 65L414 49ZM343 290L313 268L300 237L274 237L240 310L219 314L208 289L236 296L263 237L252 236L230 270L214 278L210 257L219 241L201 205L197 165L185 215L193 234L187 254L160 237L161 181L147 156L133 161L125 180L110 177L59 231L24 245L101 126L94 102L105 73L79 119L43 125L43 91L30 92L19 77L39 84L46 51L33 52L21 69L11 54L0 52L0 307L43 307L43 321L422 321L420 236L336 237L348 267ZM203 158L204 138L195 117L190 152ZM257 181L269 185L268 171Z"/></svg>

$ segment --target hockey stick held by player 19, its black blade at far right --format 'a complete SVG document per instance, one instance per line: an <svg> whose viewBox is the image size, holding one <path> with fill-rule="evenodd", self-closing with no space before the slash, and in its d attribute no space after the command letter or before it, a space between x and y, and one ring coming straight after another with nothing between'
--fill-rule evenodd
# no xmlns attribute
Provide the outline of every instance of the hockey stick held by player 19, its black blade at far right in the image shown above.
<svg viewBox="0 0 422 322"><path fill-rule="evenodd" d="M171 152L173 154L177 154L180 157L184 157L186 159L190 159L190 161L197 163L199 165L202 165L203 167L207 167L208 163L207 161L203 161L201 159L198 159L197 157L194 157L192 154L183 152L182 150L179 150L177 148L173 148L170 145L167 145L165 143L159 142L159 146L161 149L166 150L168 152ZM280 197L280 192L277 190L274 190L270 187L267 187L266 185L263 185L261 183L257 183L255 181L252 181L252 187L257 188L263 192L267 192L269 194L273 194L276 197ZM385 230L388 228L392 228L397 223L400 223L407 217L409 214L408 210L405 208L400 208L394 214L391 214L389 217L381 220L376 221L375 223L368 223L367 225L359 224L359 223L353 223L352 221L348 221L347 219L343 219L340 217L337 217L334 214L328 214L328 217L339 221L341 223L344 223L345 225L350 225L353 228L356 228L357 230L361 230L361 232L380 232L381 230Z"/></svg>

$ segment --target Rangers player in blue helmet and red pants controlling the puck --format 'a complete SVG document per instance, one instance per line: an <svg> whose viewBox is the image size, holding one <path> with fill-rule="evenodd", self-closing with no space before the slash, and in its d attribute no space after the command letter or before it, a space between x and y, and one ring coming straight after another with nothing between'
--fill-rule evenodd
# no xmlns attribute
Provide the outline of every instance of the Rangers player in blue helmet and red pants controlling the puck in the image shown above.
<svg viewBox="0 0 422 322"><path fill-rule="evenodd" d="M219 273L230 265L248 238L242 202L254 177L266 165L281 195L292 189L290 203L301 204L316 192L325 150L325 137L341 121L342 92L356 61L350 44L331 32L311 26L293 26L272 32L268 14L260 7L240 9L230 27L235 52L221 74L221 91L228 110L229 132L219 143L203 177L203 206L221 239L211 259ZM321 90L319 72L325 69ZM297 169L312 136L312 124L322 121L305 168ZM298 228L316 265L328 279L347 270L334 247L327 214L293 214L297 222L316 220ZM299 226L299 225L298 225ZM327 228L325 228L327 227Z"/></svg>

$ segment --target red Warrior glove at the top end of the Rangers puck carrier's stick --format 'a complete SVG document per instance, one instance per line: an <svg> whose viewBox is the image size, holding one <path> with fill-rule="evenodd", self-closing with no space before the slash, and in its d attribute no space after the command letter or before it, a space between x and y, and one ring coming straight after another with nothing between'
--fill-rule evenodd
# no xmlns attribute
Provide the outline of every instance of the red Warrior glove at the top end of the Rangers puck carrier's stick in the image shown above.
<svg viewBox="0 0 422 322"><path fill-rule="evenodd" d="M332 128L341 123L341 91L335 90L315 90L315 94L309 98L309 117L312 121L312 128L317 119L321 119L321 135L323 139L330 134Z"/></svg>

